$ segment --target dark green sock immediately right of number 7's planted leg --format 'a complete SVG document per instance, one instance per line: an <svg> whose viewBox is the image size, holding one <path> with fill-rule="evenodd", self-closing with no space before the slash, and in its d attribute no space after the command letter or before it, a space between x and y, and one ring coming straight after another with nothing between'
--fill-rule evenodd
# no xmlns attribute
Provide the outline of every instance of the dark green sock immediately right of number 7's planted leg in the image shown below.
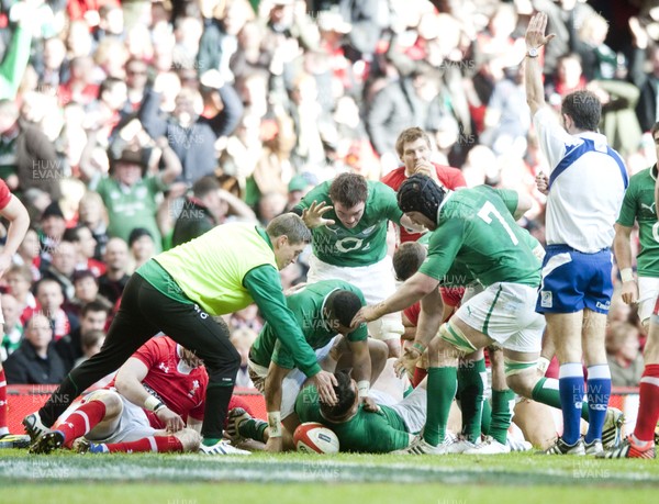
<svg viewBox="0 0 659 504"><path fill-rule="evenodd" d="M462 434L469 441L480 438L485 390L485 359L468 361L458 368L458 390L462 408Z"/></svg>

